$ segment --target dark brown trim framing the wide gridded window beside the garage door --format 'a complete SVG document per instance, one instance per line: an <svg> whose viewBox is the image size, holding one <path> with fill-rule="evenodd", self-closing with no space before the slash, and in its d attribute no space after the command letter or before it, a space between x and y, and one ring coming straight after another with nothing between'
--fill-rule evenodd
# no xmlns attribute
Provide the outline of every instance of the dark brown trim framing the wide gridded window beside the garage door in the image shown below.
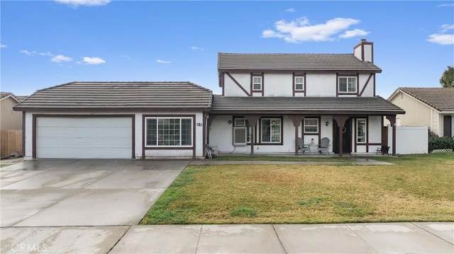
<svg viewBox="0 0 454 254"><path fill-rule="evenodd" d="M196 115L142 115L142 149L143 149L143 158L145 158L145 150L192 150L192 157L196 158ZM146 128L146 118L155 117L155 118L165 118L165 117L192 117L192 146L146 146L147 139L145 137L145 128ZM152 156L153 157L153 156Z"/></svg>

